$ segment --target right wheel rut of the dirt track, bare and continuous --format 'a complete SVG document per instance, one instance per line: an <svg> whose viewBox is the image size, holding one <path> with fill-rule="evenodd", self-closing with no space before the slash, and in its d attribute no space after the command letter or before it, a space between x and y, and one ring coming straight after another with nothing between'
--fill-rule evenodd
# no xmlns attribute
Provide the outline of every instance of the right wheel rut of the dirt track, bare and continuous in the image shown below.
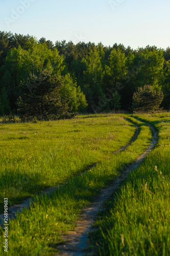
<svg viewBox="0 0 170 256"><path fill-rule="evenodd" d="M138 119L136 119L136 120L140 121ZM57 255L58 256L59 255L60 256L90 255L90 253L88 254L88 251L87 251L88 233L92 229L92 223L94 222L96 214L98 214L102 210L102 204L115 191L118 184L120 182L122 182L123 180L125 180L127 178L128 174L130 172L132 172L133 169L135 169L136 167L139 166L140 162L152 150L152 148L154 147L154 145L157 142L157 132L155 131L155 129L149 123L146 123L146 122L144 122L144 123L146 125L150 126L152 133L153 133L153 138L152 138L150 147L148 147L147 150L137 158L135 163L132 164L130 167L128 167L125 170L125 172L123 172L122 175L117 180L113 181L108 188L102 189L100 196L95 198L95 203L90 204L88 208L86 208L82 211L80 220L76 222L77 227L75 228L75 230L68 231L68 234L66 236L62 237L62 239L65 241L65 245L58 246L58 249L61 250L61 253L55 254L56 256ZM138 130L136 131L136 133L137 132L138 132ZM135 136L136 136L136 134L135 134ZM137 136L138 136L138 134L137 134ZM137 138L137 136L135 138ZM133 140L135 140L134 137L133 137ZM131 141L131 143L132 143L132 141ZM129 143L129 144L131 144L131 143Z"/></svg>

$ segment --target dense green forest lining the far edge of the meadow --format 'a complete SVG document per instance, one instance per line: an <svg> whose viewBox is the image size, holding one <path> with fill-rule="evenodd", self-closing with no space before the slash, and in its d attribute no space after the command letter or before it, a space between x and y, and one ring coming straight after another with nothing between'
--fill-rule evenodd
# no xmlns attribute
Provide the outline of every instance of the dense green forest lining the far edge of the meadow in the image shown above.
<svg viewBox="0 0 170 256"><path fill-rule="evenodd" d="M160 107L169 110L169 47L133 50L65 40L54 45L44 37L0 31L1 116L45 119L132 111L136 92L145 85ZM145 100L143 108L151 101Z"/></svg>

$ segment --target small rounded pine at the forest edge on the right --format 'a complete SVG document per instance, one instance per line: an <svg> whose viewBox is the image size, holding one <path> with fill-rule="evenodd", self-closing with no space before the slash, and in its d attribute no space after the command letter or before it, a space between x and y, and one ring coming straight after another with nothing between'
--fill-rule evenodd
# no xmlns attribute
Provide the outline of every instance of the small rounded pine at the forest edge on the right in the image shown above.
<svg viewBox="0 0 170 256"><path fill-rule="evenodd" d="M162 100L163 92L153 90L151 85L146 84L134 93L132 108L137 112L153 112L159 109Z"/></svg>

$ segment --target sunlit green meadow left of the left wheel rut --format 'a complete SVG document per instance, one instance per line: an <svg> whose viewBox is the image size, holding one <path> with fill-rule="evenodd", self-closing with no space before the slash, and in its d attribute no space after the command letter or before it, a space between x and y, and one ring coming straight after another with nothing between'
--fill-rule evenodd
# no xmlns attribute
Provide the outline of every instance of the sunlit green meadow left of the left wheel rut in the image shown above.
<svg viewBox="0 0 170 256"><path fill-rule="evenodd" d="M126 145L135 132L121 116L0 125L0 212L60 185Z"/></svg>

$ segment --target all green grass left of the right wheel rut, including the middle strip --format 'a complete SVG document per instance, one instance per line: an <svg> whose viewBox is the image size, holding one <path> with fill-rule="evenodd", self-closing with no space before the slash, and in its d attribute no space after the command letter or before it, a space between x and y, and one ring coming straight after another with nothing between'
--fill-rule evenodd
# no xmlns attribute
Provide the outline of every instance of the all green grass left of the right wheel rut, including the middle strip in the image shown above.
<svg viewBox="0 0 170 256"><path fill-rule="evenodd" d="M136 130L134 125L140 131L137 139L126 150L113 154L131 141ZM128 115L78 116L35 124L2 124L0 128L2 203L4 197L9 198L11 205L26 197L36 197L30 209L9 221L10 256L57 253L57 246L63 243L62 234L75 228L82 209L93 202L101 188L109 186L132 164L152 140L150 127ZM38 196L44 188L61 184L50 195ZM95 225L102 226L105 216L106 212ZM112 220L110 216L109 219ZM109 243L105 228L101 230L105 239L96 232L91 248L103 253L109 251L105 248ZM1 229L1 255L5 255L3 235ZM113 251L109 253L116 255Z"/></svg>

